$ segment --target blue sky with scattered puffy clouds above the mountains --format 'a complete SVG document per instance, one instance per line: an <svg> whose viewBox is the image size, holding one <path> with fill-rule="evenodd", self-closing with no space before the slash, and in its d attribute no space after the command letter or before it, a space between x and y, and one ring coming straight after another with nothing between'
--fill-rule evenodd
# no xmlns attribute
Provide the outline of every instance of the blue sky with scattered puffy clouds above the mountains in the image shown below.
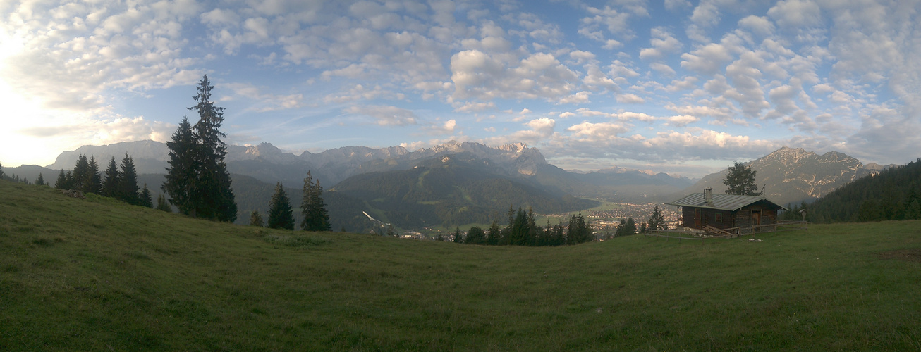
<svg viewBox="0 0 921 352"><path fill-rule="evenodd" d="M699 177L782 146L921 156L918 1L0 0L0 163L166 142L207 74L229 144L525 142Z"/></svg>

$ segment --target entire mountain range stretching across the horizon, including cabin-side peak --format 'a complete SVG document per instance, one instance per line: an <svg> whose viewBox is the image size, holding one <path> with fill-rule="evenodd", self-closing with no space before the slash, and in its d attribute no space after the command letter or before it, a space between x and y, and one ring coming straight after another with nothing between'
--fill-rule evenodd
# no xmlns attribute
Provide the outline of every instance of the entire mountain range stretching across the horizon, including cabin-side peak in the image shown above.
<svg viewBox="0 0 921 352"><path fill-rule="evenodd" d="M10 168L33 180L39 172L47 182L58 170L72 169L79 154L95 155L99 168L124 153L132 155L139 185L146 183L157 197L169 165L165 143L121 142L82 146L61 153L46 167ZM489 147L476 142L447 142L409 151L401 146L350 146L321 153L287 153L270 143L227 146L227 170L237 194L238 222L251 210L265 212L275 182L283 182L294 203L303 177L310 171L326 192L334 228L361 227L364 211L400 226L451 225L486 222L504 214L509 205L531 207L539 213L589 208L589 199L634 203L664 202L713 187L721 192L728 170L700 180L611 167L580 173L548 164L537 148L524 143ZM843 153L822 155L803 149L781 148L745 163L757 172L764 195L779 204L822 197L859 177L879 173L891 165L863 165ZM297 204L295 204L297 205ZM297 208L297 206L296 206ZM367 225L367 223L364 223Z"/></svg>

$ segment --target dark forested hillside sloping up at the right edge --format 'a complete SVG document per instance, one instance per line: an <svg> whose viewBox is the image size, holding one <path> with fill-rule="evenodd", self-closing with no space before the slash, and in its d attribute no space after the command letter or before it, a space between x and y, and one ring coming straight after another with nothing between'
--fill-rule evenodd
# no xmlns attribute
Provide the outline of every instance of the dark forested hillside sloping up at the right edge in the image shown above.
<svg viewBox="0 0 921 352"><path fill-rule="evenodd" d="M921 158L876 176L858 178L791 212L803 207L808 219L816 222L921 219Z"/></svg>

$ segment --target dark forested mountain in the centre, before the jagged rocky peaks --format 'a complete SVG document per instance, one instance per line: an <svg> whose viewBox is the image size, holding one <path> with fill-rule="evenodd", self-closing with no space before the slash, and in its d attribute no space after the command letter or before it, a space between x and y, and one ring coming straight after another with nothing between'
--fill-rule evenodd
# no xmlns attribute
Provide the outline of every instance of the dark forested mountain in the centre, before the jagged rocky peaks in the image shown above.
<svg viewBox="0 0 921 352"><path fill-rule="evenodd" d="M595 204L553 195L504 172L488 159L449 154L426 159L409 170L352 176L333 187L331 193L361 199L402 227L500 220L509 206L558 213Z"/></svg>

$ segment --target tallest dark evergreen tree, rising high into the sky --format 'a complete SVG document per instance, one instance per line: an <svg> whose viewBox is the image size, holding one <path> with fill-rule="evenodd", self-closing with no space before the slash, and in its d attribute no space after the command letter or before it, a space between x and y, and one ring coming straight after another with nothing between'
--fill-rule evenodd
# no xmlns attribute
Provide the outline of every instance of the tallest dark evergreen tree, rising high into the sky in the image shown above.
<svg viewBox="0 0 921 352"><path fill-rule="evenodd" d="M204 219L233 222L237 219L237 203L227 173L227 144L221 138L227 133L221 132L224 123L224 108L216 107L211 101L214 86L204 75L199 82L195 106L189 110L198 112L199 120L192 127L195 136L195 165L198 168L192 187L194 195L194 215Z"/></svg>

